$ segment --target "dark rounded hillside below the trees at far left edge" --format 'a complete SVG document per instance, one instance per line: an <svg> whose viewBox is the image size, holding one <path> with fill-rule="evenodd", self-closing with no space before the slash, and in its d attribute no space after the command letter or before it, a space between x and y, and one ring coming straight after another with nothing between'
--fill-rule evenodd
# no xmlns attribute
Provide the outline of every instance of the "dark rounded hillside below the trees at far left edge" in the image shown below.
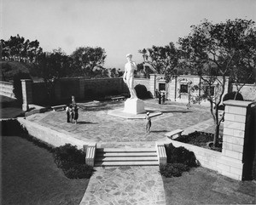
<svg viewBox="0 0 256 205"><path fill-rule="evenodd" d="M26 65L15 61L0 61L0 80L1 81L12 81L13 77L18 72L29 73Z"/></svg>

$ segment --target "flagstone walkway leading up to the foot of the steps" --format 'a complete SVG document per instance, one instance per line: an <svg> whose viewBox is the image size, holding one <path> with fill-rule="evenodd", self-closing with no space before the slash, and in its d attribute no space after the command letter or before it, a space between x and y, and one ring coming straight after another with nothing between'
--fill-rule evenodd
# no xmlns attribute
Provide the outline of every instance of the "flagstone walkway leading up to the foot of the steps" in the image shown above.
<svg viewBox="0 0 256 205"><path fill-rule="evenodd" d="M166 204L158 167L96 168L80 205Z"/></svg>

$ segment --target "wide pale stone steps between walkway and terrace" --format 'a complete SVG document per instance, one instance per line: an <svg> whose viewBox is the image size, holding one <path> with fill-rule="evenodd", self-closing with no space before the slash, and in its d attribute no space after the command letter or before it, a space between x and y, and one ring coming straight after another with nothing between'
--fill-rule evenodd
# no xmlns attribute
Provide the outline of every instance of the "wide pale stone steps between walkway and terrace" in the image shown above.
<svg viewBox="0 0 256 205"><path fill-rule="evenodd" d="M101 148L96 149L95 164L101 166L157 166L155 148Z"/></svg>

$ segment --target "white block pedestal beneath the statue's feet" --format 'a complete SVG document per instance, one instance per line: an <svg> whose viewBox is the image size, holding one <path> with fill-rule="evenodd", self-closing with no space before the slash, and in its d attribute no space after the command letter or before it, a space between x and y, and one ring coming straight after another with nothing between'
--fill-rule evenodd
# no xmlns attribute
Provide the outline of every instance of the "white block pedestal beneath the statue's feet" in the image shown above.
<svg viewBox="0 0 256 205"><path fill-rule="evenodd" d="M128 99L125 101L124 112L134 115L145 113L144 102L140 99Z"/></svg>

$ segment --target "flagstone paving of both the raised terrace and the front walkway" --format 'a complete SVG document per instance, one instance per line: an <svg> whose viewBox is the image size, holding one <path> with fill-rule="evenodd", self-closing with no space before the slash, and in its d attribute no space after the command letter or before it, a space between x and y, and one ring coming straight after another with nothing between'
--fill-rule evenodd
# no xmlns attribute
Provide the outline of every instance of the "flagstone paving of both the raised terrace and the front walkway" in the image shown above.
<svg viewBox="0 0 256 205"><path fill-rule="evenodd" d="M194 130L212 131L209 109L144 100L148 110L161 111L152 118L152 128L146 133L143 119L125 119L108 115L108 111L124 107L124 102L80 103L79 122L67 123L65 111L49 111L26 117L59 132L75 134L80 140L95 141L97 147L154 147L155 141L168 140L167 132L182 128L184 133ZM166 204L163 181L158 167L96 168L95 174L80 203L85 204Z"/></svg>

